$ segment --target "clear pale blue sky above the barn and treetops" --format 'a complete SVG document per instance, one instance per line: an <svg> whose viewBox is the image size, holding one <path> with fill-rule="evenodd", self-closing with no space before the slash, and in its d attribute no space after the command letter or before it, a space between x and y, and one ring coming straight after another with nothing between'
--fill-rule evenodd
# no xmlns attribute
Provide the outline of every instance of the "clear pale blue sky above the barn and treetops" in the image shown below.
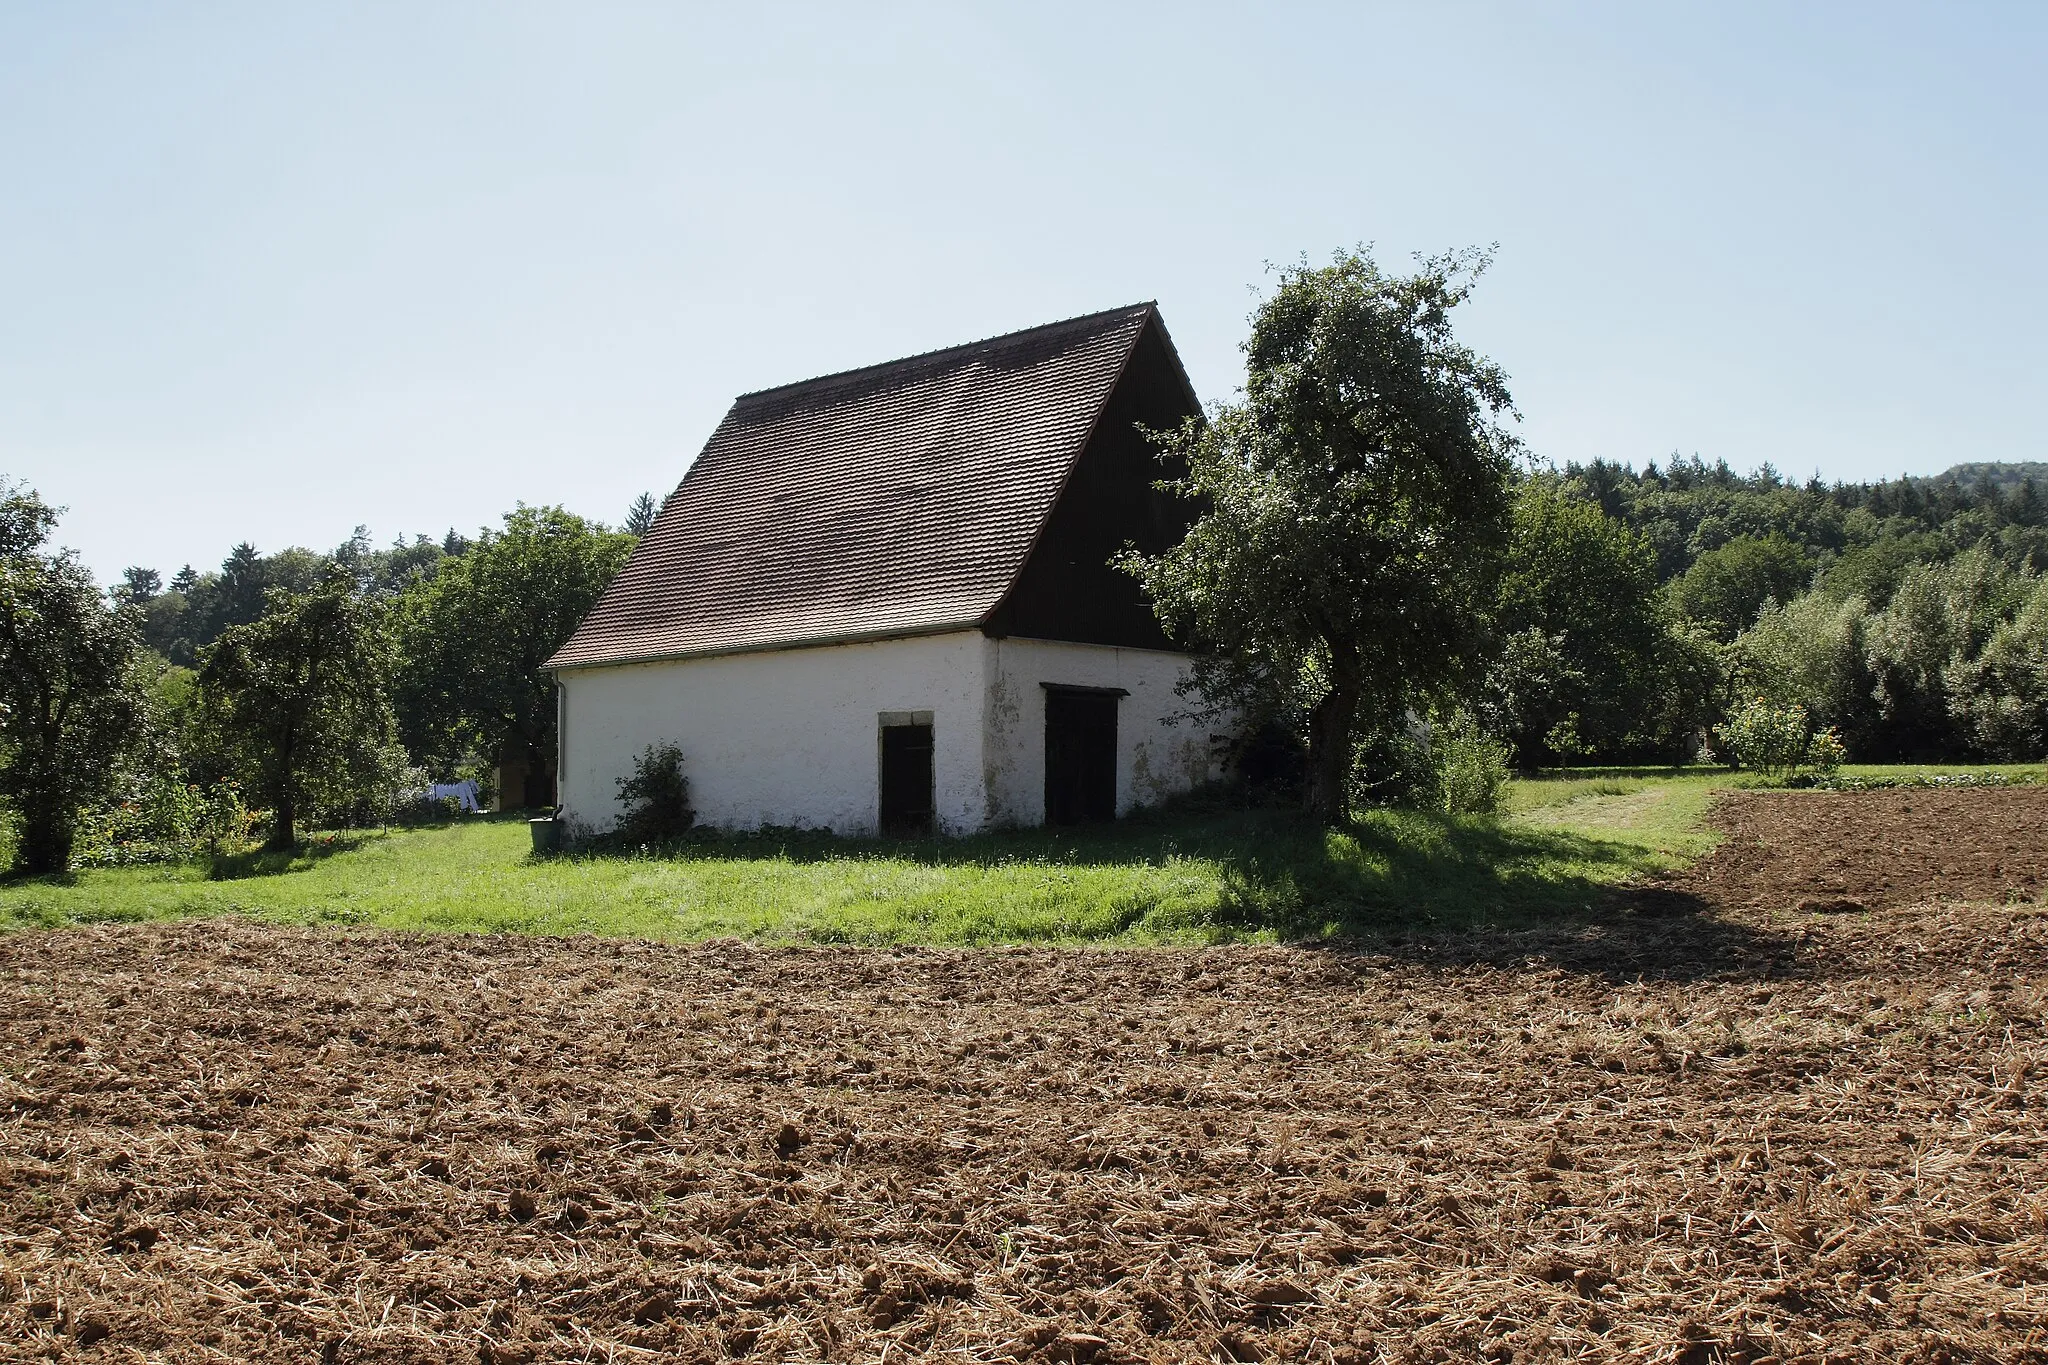
<svg viewBox="0 0 2048 1365"><path fill-rule="evenodd" d="M2048 6L14 4L0 471L106 579L616 522L731 395L1499 244L1552 460L2048 458Z"/></svg>

